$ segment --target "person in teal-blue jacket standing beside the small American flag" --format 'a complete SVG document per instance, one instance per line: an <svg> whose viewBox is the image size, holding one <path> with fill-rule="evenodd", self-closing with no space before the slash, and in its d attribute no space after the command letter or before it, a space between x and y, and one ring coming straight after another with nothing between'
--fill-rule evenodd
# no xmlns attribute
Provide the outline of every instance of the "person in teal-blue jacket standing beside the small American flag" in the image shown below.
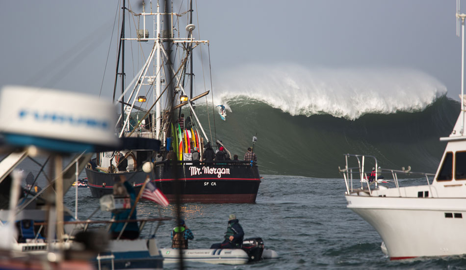
<svg viewBox="0 0 466 270"><path fill-rule="evenodd" d="M126 180L123 180L123 183L117 182L114 184L113 195L115 197L129 197L131 202L131 208L133 207L134 202L136 200L136 191ZM131 208L113 211L112 218L115 220L127 220L129 213L131 212ZM136 208L134 208L134 211L129 219L136 219ZM120 232L121 230L123 230L124 225L125 222L118 222L112 224L112 226L110 227L112 239L118 238L118 235L120 235ZM128 222L120 239L136 239L138 237L139 226L137 225L136 221L133 221Z"/></svg>

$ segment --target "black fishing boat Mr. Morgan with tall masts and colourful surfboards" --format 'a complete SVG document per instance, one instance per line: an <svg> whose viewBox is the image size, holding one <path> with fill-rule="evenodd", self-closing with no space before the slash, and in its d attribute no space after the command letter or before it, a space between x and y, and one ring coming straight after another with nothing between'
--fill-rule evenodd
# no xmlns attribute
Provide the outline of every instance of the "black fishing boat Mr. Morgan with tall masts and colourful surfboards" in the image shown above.
<svg viewBox="0 0 466 270"><path fill-rule="evenodd" d="M121 105L121 114L116 126L119 137L154 138L162 141L163 145L159 152L138 145L119 153L98 152L96 158L86 166L88 187L92 195L101 197L111 193L115 179L121 175L138 191L148 175L142 170L142 164L153 161L154 170L149 174L154 179L155 186L170 201L174 201L176 189L179 189L181 202L255 203L260 184L257 162L207 161L202 158L208 146L214 149L223 147L227 156L233 156L228 150L227 142L208 139L193 106L194 101L209 94L206 91L193 96L193 49L203 44L208 45L209 41L194 38L192 3L189 12L181 14L165 11L170 8L162 9L158 1L156 5L152 1L150 3L148 12L144 1L142 12L129 12L139 22L140 28L132 31L136 33L135 37L125 37L125 8L123 10L119 39L122 58L118 60L118 63L121 60L121 70L117 74L125 74L125 41L138 43L138 48L147 45L150 50L142 53L148 57L128 87L125 88L124 76L121 76L122 94L115 100L115 103ZM189 23L180 27L183 16L189 16ZM161 30L162 27L165 30ZM150 31L153 37L150 37ZM169 50L164 44L176 49ZM177 53L171 53L173 51ZM152 69L152 74L149 69ZM185 81L190 81L189 93L185 89ZM166 91L169 82L175 85L173 95ZM115 90L116 83L114 93ZM145 105L151 92L152 105ZM126 96L129 96L129 102L125 102ZM184 114L182 111L189 114L186 119L181 118ZM174 154L169 154L170 149L173 149ZM200 159L193 161L193 153L199 153ZM157 159L157 154L160 154L160 159ZM167 159L169 155L172 155L171 160ZM177 187L177 183L181 185Z"/></svg>

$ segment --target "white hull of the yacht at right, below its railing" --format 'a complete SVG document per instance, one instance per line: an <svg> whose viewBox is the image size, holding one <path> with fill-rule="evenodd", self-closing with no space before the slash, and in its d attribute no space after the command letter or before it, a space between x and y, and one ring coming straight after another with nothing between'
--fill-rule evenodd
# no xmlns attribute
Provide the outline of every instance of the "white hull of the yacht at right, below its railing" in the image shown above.
<svg viewBox="0 0 466 270"><path fill-rule="evenodd" d="M391 260L466 254L466 198L345 197L379 233Z"/></svg>

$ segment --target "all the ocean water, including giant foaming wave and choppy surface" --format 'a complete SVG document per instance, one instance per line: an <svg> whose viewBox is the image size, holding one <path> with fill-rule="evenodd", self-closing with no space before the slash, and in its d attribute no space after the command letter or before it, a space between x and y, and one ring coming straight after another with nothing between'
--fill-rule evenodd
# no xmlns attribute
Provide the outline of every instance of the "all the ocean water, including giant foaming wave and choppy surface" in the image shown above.
<svg viewBox="0 0 466 270"><path fill-rule="evenodd" d="M261 237L280 258L243 266L188 264L189 269L466 269L463 256L390 261L377 232L346 208L338 173L344 153L374 155L382 168L410 165L435 172L445 147L439 137L450 134L460 110L439 81L410 70L245 70L248 76L233 71L214 84L222 90L215 89L219 98L213 103L227 107L226 121L206 106L210 98L195 105L207 137L221 140L232 155L242 157L253 146L252 136L258 137L254 151L263 179L257 201L184 204L182 211L195 236L190 248L221 242L228 216L235 214L246 238ZM20 167L38 171L30 161ZM45 179L38 181L43 187ZM87 219L99 208L98 199L89 189L78 194L78 217ZM72 212L74 196L71 189L65 197ZM147 201L137 211L141 218L174 216L173 206ZM110 214L98 211L93 218L107 220ZM159 246L169 247L174 226L174 220L158 228L148 224L143 234L155 233Z"/></svg>

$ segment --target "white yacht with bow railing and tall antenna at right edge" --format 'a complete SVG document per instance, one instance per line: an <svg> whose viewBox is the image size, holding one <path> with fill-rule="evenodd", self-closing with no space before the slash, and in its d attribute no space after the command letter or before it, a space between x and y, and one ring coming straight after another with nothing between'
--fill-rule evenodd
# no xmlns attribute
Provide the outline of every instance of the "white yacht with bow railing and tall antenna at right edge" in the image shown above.
<svg viewBox="0 0 466 270"><path fill-rule="evenodd" d="M340 169L346 184L347 207L361 216L381 236L384 253L390 260L423 256L466 254L466 118L464 99L464 25L462 23L462 89L461 112L453 131L441 137L446 147L435 174L424 173L417 181L425 184L401 187L401 170L379 169L374 156L346 154L346 165ZM459 29L459 28L458 28ZM365 179L367 167L374 167L375 179ZM382 166L383 167L383 166ZM380 183L379 173L392 176L393 186ZM354 177L355 176L355 177ZM423 179L423 180L422 180ZM356 183L353 186L353 182ZM414 180L412 180L414 181ZM387 182L387 181L386 181ZM357 185L357 186L356 186Z"/></svg>

